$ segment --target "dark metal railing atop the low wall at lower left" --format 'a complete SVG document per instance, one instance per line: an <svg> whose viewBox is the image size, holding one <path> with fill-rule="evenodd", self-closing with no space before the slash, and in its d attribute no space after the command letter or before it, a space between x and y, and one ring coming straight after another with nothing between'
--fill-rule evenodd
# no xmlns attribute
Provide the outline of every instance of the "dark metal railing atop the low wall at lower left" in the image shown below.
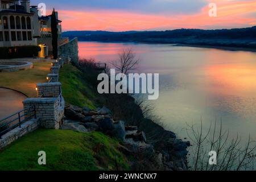
<svg viewBox="0 0 256 182"><path fill-rule="evenodd" d="M29 117L25 117L27 115L29 115ZM0 139L2 139L2 135L15 129L16 127L21 127L23 123L25 123L31 118L36 118L35 105L27 107L26 109L20 110L17 113L9 115L9 117L1 119L0 120Z"/></svg>

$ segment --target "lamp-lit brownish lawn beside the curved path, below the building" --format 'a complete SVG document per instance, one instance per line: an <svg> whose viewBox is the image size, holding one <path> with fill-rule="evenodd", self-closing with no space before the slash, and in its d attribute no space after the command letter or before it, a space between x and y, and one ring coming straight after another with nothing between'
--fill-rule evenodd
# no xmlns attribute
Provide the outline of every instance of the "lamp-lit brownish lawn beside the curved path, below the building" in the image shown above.
<svg viewBox="0 0 256 182"><path fill-rule="evenodd" d="M36 97L36 84L46 82L51 62L33 63L34 68L18 72L0 73L0 86L18 90L28 97Z"/></svg>

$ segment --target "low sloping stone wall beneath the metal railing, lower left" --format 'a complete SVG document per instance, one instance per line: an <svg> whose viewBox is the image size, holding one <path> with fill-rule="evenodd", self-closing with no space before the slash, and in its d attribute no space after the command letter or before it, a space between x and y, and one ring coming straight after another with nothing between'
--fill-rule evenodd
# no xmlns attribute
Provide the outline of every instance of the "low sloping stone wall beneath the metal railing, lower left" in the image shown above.
<svg viewBox="0 0 256 182"><path fill-rule="evenodd" d="M23 135L38 129L39 126L40 119L37 118L31 119L30 121L23 123L21 127L16 127L14 130L9 131L2 136L2 139L0 139L0 150L14 142L16 139L23 137Z"/></svg>

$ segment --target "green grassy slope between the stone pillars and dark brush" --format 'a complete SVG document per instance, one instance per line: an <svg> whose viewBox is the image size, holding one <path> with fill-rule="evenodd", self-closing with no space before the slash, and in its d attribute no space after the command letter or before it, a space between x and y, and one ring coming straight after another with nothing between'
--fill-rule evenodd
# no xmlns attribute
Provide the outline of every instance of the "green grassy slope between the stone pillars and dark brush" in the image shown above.
<svg viewBox="0 0 256 182"><path fill-rule="evenodd" d="M60 69L60 82L67 104L95 109L96 106L92 101L96 97L86 81L86 76L79 69L71 64L64 65L64 68Z"/></svg>

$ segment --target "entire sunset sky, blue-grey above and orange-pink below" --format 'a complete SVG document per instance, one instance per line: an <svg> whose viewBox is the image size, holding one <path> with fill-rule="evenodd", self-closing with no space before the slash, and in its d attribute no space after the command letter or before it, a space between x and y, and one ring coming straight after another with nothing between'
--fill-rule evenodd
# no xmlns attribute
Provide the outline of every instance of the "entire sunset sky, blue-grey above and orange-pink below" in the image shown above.
<svg viewBox="0 0 256 182"><path fill-rule="evenodd" d="M241 28L256 26L256 0L31 0L53 7L69 30L173 30L176 28ZM210 17L216 3L217 17Z"/></svg>

